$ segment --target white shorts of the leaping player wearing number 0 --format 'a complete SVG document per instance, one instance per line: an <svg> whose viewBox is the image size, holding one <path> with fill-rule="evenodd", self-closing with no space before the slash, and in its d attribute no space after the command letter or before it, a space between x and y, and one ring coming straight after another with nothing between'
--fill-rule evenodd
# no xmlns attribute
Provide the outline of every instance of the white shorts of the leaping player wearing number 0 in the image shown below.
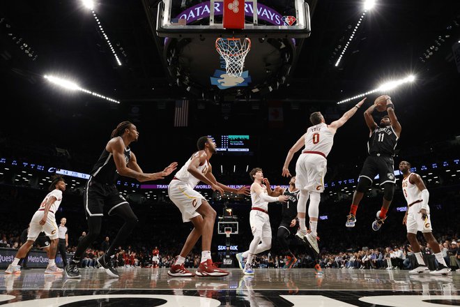
<svg viewBox="0 0 460 307"><path fill-rule="evenodd" d="M300 154L296 163L296 188L323 193L328 160L316 153Z"/></svg>

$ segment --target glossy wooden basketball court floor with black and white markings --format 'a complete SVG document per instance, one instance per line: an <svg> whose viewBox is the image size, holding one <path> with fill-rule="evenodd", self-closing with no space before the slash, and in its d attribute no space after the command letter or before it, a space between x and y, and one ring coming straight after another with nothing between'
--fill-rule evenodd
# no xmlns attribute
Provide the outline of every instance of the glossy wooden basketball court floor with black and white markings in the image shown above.
<svg viewBox="0 0 460 307"><path fill-rule="evenodd" d="M43 269L0 277L0 305L26 306L459 306L460 274L410 276L408 271L256 269L244 276L171 278L167 268L82 269L81 280Z"/></svg>

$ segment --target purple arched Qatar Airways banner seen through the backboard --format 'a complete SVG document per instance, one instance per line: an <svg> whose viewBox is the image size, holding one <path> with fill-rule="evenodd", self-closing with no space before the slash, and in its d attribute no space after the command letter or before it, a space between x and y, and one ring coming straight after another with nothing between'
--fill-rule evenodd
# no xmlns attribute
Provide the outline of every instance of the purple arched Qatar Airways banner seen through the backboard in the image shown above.
<svg viewBox="0 0 460 307"><path fill-rule="evenodd" d="M209 18L210 15L210 1L201 2L196 6L192 6L191 8L187 8L181 14L177 15L176 18L178 20L185 19L187 20L187 24L190 22L194 22L197 20L201 20L203 18ZM223 2L215 2L214 3L214 15L222 15L224 10L224 3ZM252 3L245 3L245 15L252 16L254 15L254 8L252 7ZM286 26L290 24L286 24L284 22L285 18L283 15L279 14L273 8L269 8L268 6L264 6L263 4L257 4L257 18L259 20L265 20L266 22L273 24L275 26Z"/></svg>

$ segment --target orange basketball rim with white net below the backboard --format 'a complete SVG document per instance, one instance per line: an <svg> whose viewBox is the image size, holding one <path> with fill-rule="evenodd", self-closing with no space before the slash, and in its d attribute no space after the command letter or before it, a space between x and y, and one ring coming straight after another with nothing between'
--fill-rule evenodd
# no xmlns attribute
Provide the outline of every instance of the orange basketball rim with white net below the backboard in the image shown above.
<svg viewBox="0 0 460 307"><path fill-rule="evenodd" d="M241 77L247 52L251 50L250 38L217 38L215 50L224 58L227 74Z"/></svg>

